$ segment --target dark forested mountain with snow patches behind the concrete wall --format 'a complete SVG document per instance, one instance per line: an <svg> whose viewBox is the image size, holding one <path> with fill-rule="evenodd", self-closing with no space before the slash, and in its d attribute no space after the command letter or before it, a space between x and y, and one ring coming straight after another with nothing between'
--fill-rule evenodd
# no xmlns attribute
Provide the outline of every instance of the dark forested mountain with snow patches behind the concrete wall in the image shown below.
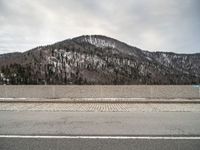
<svg viewBox="0 0 200 150"><path fill-rule="evenodd" d="M149 52L101 35L0 55L0 84L199 84L200 53Z"/></svg>

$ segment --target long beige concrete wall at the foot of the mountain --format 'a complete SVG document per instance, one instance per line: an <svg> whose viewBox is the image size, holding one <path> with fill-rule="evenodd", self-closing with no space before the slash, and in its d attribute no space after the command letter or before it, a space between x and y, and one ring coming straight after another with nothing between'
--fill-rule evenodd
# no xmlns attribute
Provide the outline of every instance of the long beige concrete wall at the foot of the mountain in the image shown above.
<svg viewBox="0 0 200 150"><path fill-rule="evenodd" d="M200 88L191 85L2 85L0 98L200 98Z"/></svg>

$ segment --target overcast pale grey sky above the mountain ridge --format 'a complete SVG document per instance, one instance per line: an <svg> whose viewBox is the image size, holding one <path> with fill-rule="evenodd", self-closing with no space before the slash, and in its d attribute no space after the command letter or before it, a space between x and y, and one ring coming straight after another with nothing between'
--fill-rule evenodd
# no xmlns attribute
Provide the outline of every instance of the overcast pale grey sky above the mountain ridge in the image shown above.
<svg viewBox="0 0 200 150"><path fill-rule="evenodd" d="M149 51L200 52L200 0L0 0L0 53L101 34Z"/></svg>

